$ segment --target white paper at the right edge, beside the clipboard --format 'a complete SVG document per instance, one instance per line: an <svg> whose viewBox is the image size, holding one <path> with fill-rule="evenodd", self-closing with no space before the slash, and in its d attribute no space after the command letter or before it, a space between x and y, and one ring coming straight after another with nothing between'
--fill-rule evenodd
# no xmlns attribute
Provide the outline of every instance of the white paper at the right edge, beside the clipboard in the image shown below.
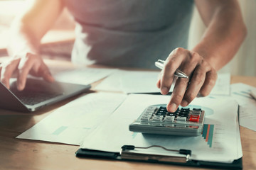
<svg viewBox="0 0 256 170"><path fill-rule="evenodd" d="M250 91L255 89L247 84L231 85L231 96L240 105L240 125L254 131L256 131L256 101L250 96Z"/></svg>

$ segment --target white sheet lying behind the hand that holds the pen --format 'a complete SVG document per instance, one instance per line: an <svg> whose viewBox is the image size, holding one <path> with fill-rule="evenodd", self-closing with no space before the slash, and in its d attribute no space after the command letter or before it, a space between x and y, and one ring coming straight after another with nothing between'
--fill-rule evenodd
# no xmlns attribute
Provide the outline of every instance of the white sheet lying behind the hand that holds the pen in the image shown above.
<svg viewBox="0 0 256 170"><path fill-rule="evenodd" d="M159 93L156 87L159 72L118 70L105 78L95 89L102 91L123 91L130 93ZM174 84L170 91L174 90ZM218 74L210 95L230 95L230 74Z"/></svg>

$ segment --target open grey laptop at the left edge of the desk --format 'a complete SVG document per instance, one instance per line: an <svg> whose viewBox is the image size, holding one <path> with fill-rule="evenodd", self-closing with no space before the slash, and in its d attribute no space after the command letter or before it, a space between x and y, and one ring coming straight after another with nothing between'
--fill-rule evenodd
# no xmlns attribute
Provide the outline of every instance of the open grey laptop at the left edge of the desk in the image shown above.
<svg viewBox="0 0 256 170"><path fill-rule="evenodd" d="M90 85L68 84L55 81L49 83L43 79L28 78L23 91L16 88L16 79L10 79L10 89L0 82L0 108L31 112L65 98L89 91Z"/></svg>

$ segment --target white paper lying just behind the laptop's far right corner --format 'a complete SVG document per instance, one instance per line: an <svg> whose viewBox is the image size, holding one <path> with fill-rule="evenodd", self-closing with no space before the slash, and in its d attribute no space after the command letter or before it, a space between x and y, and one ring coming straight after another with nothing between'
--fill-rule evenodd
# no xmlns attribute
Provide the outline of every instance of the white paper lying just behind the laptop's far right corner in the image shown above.
<svg viewBox="0 0 256 170"><path fill-rule="evenodd" d="M50 70L56 81L72 84L92 84L115 72L116 69L97 69L80 67L76 69L54 69Z"/></svg>

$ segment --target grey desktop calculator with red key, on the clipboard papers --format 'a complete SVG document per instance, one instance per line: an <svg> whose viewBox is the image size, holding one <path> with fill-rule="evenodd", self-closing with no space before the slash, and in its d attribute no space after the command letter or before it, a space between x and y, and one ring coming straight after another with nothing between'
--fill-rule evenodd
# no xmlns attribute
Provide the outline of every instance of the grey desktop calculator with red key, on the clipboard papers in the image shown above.
<svg viewBox="0 0 256 170"><path fill-rule="evenodd" d="M203 131L204 119L205 111L201 108L178 108L170 113L164 104L153 105L129 125L129 130L159 135L198 136Z"/></svg>

